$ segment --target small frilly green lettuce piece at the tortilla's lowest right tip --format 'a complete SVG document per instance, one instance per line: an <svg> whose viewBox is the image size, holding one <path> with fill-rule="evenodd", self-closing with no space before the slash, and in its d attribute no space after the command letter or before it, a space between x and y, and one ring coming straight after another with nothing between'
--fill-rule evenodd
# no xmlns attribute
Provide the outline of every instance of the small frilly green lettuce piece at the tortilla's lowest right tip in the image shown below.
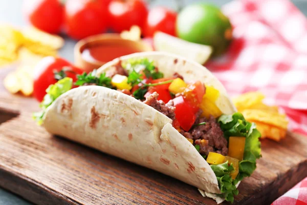
<svg viewBox="0 0 307 205"><path fill-rule="evenodd" d="M219 194L219 196L232 203L234 198L233 196L239 193L235 187L238 181L233 180L230 176L231 172L234 171L232 164L228 166L228 161L226 161L220 165L210 165L210 167L217 178L218 186L222 192L222 194Z"/></svg>

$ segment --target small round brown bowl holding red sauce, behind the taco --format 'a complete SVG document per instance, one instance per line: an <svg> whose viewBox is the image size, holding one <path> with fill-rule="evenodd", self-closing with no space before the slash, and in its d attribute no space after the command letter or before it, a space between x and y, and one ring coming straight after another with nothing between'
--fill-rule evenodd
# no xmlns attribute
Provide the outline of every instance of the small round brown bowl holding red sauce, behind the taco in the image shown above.
<svg viewBox="0 0 307 205"><path fill-rule="evenodd" d="M103 46L103 45L120 45L121 47L131 48L131 50L137 50L139 52L152 51L150 45L144 42L135 42L133 40L123 39L119 34L115 33L104 33L99 35L93 35L82 40L75 45L74 48L74 58L75 65L85 72L91 72L94 69L101 67L103 64L111 61L113 59L109 59L108 61L98 61L98 60L88 60L84 59L82 56L82 52L86 48L94 47L95 45ZM128 53L129 54L129 53ZM118 56L120 57L120 56Z"/></svg>

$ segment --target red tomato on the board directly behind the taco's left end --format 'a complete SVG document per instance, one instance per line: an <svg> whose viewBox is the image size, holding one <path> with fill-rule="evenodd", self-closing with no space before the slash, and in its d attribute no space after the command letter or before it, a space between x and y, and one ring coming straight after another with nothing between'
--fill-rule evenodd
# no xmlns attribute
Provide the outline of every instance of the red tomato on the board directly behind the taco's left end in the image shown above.
<svg viewBox="0 0 307 205"><path fill-rule="evenodd" d="M64 71L65 76L71 77L74 82L77 79L76 75L83 73L82 70L74 67L69 61L52 56L41 59L36 65L34 69L33 95L38 101L41 101L43 96L46 95L46 89L57 82L55 73L61 70Z"/></svg>

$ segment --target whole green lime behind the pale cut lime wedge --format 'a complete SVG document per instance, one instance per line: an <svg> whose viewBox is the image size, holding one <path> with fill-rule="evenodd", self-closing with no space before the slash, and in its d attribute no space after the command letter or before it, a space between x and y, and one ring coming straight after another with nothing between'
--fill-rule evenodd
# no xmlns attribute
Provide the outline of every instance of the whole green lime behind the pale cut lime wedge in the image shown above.
<svg viewBox="0 0 307 205"><path fill-rule="evenodd" d="M219 8L203 3L185 7L178 15L176 29L188 42L212 46L214 56L223 54L232 39L229 18Z"/></svg>

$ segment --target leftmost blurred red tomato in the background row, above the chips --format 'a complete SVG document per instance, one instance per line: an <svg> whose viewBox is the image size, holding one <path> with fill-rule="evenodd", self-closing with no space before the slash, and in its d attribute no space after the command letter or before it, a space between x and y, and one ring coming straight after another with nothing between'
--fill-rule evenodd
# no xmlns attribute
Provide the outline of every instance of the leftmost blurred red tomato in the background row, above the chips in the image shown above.
<svg viewBox="0 0 307 205"><path fill-rule="evenodd" d="M58 33L63 23L63 5L59 0L25 0L23 12L36 28Z"/></svg>

